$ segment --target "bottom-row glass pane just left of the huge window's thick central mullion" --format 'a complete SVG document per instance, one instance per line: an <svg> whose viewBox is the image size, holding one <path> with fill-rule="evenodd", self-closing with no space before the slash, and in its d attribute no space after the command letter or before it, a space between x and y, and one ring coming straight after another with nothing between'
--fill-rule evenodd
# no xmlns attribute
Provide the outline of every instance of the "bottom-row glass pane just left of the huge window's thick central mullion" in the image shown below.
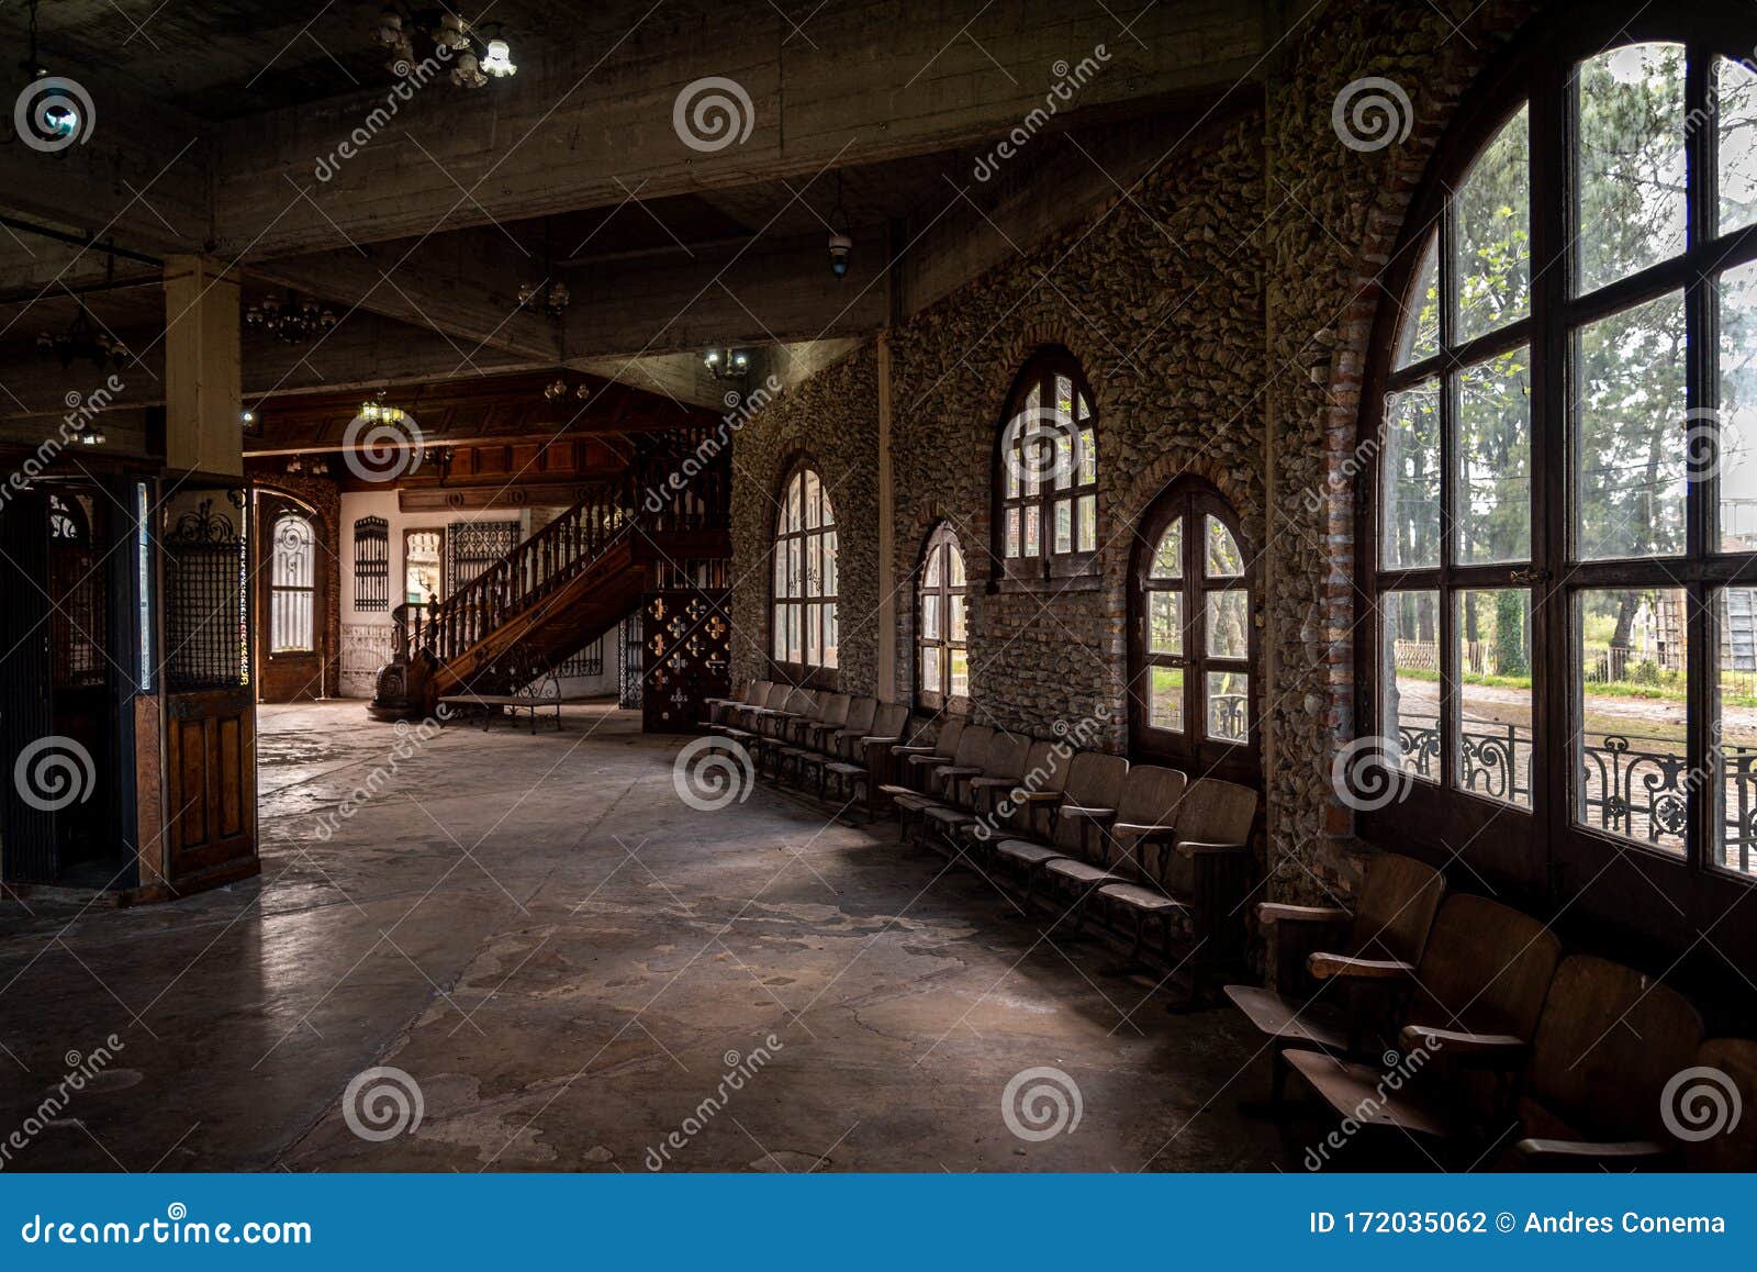
<svg viewBox="0 0 1757 1272"><path fill-rule="evenodd" d="M1453 780L1490 799L1532 801L1530 594L1460 592L1458 743Z"/></svg>

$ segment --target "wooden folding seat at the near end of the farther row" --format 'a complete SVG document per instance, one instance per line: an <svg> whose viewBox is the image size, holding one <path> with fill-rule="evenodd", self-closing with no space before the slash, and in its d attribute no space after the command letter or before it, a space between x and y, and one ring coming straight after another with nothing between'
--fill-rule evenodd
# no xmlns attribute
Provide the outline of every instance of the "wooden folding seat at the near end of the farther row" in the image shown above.
<svg viewBox="0 0 1757 1272"><path fill-rule="evenodd" d="M1133 840L1139 877L1105 882L1093 900L1126 915L1137 958L1149 922L1158 926L1167 954L1174 945L1172 933L1182 931L1198 959L1191 965L1191 977L1198 966L1218 963L1242 945L1239 908L1251 871L1254 822L1256 791L1205 777L1191 782L1158 824L1119 819L1110 828L1116 838Z"/></svg>

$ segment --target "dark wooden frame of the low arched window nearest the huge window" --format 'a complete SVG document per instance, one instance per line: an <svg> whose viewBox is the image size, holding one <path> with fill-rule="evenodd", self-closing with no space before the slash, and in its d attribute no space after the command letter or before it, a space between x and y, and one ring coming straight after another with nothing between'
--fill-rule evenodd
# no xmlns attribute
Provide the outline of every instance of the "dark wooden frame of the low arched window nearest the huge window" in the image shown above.
<svg viewBox="0 0 1757 1272"><path fill-rule="evenodd" d="M1209 576L1205 569L1207 518L1212 517L1226 532L1244 566L1240 575ZM1154 578L1153 559L1160 539L1182 522L1182 560L1175 580ZM1262 773L1262 676L1258 668L1258 553L1251 550L1239 529L1239 515L1211 483L1200 478L1181 478L1168 485L1149 504L1135 531L1135 546L1128 573L1128 697L1130 697L1130 750L1140 759L1163 761L1186 770L1191 777L1225 777L1233 782L1256 782ZM1242 592L1246 596L1246 654L1242 659L1219 657L1207 652L1207 597L1216 592ZM1151 627L1151 601L1154 594L1182 597L1182 654L1154 654ZM1175 666L1184 669L1182 729L1163 729L1151 724L1149 689L1153 668ZM1207 675L1209 671L1235 671L1247 678L1244 741L1214 738L1207 729Z"/></svg>

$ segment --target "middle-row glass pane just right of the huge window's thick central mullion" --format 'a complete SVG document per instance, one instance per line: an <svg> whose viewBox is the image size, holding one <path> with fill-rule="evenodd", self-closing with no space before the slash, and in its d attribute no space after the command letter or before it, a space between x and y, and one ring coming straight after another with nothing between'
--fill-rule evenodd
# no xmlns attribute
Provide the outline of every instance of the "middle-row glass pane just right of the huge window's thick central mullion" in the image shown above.
<svg viewBox="0 0 1757 1272"><path fill-rule="evenodd" d="M1683 552L1683 293L1574 334L1580 555Z"/></svg>

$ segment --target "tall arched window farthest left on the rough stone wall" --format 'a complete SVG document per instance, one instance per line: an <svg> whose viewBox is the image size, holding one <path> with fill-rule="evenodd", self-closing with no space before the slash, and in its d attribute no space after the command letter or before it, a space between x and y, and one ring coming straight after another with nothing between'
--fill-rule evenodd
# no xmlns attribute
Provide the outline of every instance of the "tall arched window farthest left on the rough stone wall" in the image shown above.
<svg viewBox="0 0 1757 1272"><path fill-rule="evenodd" d="M787 478L775 517L771 650L796 680L836 666L836 513L810 467Z"/></svg>

